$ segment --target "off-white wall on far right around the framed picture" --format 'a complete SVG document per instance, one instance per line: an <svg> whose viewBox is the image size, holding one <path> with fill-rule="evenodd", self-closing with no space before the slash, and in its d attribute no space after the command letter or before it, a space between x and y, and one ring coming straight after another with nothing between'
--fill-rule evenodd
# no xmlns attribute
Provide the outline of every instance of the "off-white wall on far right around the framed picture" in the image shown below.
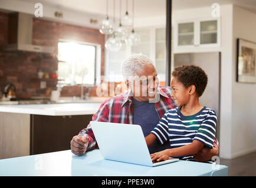
<svg viewBox="0 0 256 188"><path fill-rule="evenodd" d="M236 82L237 38L256 42L256 14L234 6L232 66L232 156L256 151L256 83Z"/></svg>

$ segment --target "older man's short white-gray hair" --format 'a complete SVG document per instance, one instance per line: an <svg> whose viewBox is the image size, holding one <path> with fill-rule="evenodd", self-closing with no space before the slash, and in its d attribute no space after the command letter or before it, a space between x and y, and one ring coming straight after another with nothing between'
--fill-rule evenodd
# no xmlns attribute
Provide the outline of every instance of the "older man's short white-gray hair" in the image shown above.
<svg viewBox="0 0 256 188"><path fill-rule="evenodd" d="M153 65L153 61L142 53L134 53L122 62L122 75L125 80L137 76L137 70L144 68L145 65ZM154 66L154 65L153 65Z"/></svg>

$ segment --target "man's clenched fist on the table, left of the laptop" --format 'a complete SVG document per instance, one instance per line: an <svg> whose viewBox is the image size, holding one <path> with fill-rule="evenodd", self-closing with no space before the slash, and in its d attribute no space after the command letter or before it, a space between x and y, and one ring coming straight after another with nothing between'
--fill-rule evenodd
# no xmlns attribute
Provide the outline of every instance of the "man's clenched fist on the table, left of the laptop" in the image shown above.
<svg viewBox="0 0 256 188"><path fill-rule="evenodd" d="M88 140L86 137L74 136L70 142L71 152L74 155L82 155L86 152L88 147Z"/></svg>

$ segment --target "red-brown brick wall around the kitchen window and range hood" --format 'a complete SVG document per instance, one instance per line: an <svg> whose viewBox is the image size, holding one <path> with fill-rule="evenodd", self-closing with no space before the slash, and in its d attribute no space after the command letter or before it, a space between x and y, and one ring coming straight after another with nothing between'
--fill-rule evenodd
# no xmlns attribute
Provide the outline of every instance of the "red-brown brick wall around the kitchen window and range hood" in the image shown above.
<svg viewBox="0 0 256 188"><path fill-rule="evenodd" d="M104 35L99 30L63 24L60 22L33 19L32 43L34 45L54 46L57 54L59 39L97 43L101 45L101 75L104 75ZM0 12L0 45L8 43L8 14ZM17 88L17 98L31 96L49 97L47 89L40 89L40 82L47 82L47 88L56 89L56 79L38 79L37 73L53 73L57 70L57 58L34 52L4 52L0 51L0 90L11 82ZM80 87L67 86L61 96L80 96ZM95 90L91 89L91 90Z"/></svg>

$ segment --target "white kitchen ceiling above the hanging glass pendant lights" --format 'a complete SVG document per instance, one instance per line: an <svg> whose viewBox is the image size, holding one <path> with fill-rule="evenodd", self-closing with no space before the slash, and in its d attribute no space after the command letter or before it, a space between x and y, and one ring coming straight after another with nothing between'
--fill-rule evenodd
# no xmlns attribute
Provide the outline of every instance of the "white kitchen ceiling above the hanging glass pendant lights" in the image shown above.
<svg viewBox="0 0 256 188"><path fill-rule="evenodd" d="M19 0L21 1L21 0ZM106 15L107 0L22 0L29 2L41 2L42 5L55 6L63 9L73 9L75 11L86 12L94 15ZM132 0L108 0L109 15L113 16L113 2L115 2L115 16L119 18L120 2L122 2L122 15L126 11L126 1L128 2L128 11L132 14ZM235 4L248 9L256 14L256 0L173 0L172 8L189 9L203 6L211 6L214 3L220 5ZM150 16L165 16L166 0L134 0L134 17L143 18Z"/></svg>

